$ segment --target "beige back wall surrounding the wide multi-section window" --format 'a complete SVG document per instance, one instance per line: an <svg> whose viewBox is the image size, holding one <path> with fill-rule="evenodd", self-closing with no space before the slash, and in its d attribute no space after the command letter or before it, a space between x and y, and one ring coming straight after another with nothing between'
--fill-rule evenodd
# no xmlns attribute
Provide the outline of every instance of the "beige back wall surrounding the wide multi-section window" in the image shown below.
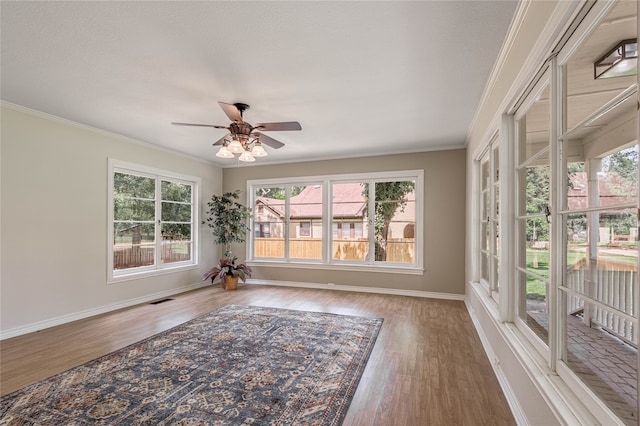
<svg viewBox="0 0 640 426"><path fill-rule="evenodd" d="M251 179L424 170L424 275L257 266L253 278L463 294L465 157L449 150L224 169L225 191L244 191Z"/></svg>

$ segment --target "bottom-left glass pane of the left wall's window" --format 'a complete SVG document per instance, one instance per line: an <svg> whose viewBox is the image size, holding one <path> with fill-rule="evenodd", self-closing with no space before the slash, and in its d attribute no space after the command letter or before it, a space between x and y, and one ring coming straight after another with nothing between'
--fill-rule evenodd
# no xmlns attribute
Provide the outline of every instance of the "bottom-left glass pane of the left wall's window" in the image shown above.
<svg viewBox="0 0 640 426"><path fill-rule="evenodd" d="M155 224L115 223L113 269L155 264Z"/></svg>

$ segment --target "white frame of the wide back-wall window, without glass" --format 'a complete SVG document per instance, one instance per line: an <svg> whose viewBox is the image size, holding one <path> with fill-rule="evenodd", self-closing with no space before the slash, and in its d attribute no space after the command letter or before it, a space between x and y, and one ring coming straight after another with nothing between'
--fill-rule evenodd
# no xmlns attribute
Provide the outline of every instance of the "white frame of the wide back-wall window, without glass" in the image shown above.
<svg viewBox="0 0 640 426"><path fill-rule="evenodd" d="M379 262L373 259L363 262L337 261L331 259L330 247L332 241L332 214L331 205L328 200L331 199L331 187L334 183L343 182L385 182L389 180L415 180L415 262L413 264ZM255 205L256 187L287 187L300 185L322 185L323 188L323 215L322 215L322 259L289 259L285 244L285 257L283 259L256 258L254 255L254 237L252 233L247 241L247 259L252 266L271 266L271 267L292 267L311 268L311 269L331 269L331 270L351 270L351 271L380 271L386 270L390 272L398 272L404 274L422 275L423 270L423 194L424 194L424 170L402 170L396 172L378 172L378 173L360 173L360 174L343 174L343 175L323 175L323 176L306 176L295 178L281 179L256 179L247 181L247 203L250 206ZM372 204L375 200L369 199L370 210L373 211ZM286 200L288 206L288 198ZM285 209L287 210L287 209ZM288 211L288 210L287 210ZM250 227L253 229L253 218L250 221ZM287 227L285 227L287 228ZM373 227L370 226L370 234ZM373 245L373 235L369 235L370 244ZM373 257L373 256L370 256Z"/></svg>

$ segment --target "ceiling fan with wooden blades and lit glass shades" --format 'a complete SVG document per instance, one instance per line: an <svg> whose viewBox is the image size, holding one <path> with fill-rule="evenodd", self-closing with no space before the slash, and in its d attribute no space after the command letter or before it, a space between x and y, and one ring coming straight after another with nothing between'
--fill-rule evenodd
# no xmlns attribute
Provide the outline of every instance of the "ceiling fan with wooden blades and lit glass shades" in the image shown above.
<svg viewBox="0 0 640 426"><path fill-rule="evenodd" d="M216 156L222 158L234 158L233 154L241 154L238 158L240 161L252 162L255 157L264 157L267 152L262 144L272 148L282 148L284 144L262 132L269 131L289 131L302 130L302 126L297 121L283 121L277 123L256 123L252 125L244 121L244 112L249 109L249 105L243 103L228 104L218 102L220 108L227 114L232 121L228 126L217 124L196 124L196 123L177 123L171 124L176 126L198 126L198 127L215 127L216 129L227 129L229 134L220 138L213 145L222 145Z"/></svg>

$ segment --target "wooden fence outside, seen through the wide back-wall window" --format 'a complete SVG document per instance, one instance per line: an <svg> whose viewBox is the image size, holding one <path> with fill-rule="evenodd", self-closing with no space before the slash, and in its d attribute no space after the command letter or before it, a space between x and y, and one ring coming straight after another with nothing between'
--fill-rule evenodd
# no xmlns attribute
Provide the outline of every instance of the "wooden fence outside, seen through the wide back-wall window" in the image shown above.
<svg viewBox="0 0 640 426"><path fill-rule="evenodd" d="M284 238L256 238L254 256L256 258L284 257ZM333 260L364 261L369 243L366 238L334 240ZM292 238L289 241L291 259L322 259L321 238ZM413 263L415 259L415 239L397 238L387 243L387 262Z"/></svg>

